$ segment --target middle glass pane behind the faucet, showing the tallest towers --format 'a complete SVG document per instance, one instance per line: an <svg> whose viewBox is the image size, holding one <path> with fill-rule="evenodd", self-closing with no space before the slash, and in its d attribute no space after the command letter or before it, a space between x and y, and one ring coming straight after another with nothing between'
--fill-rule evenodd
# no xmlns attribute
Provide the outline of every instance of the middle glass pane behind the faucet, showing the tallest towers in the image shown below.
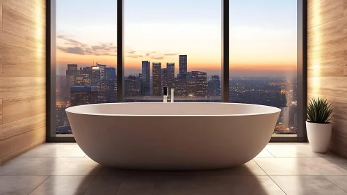
<svg viewBox="0 0 347 195"><path fill-rule="evenodd" d="M220 102L221 1L124 0L124 48L125 102Z"/></svg>

